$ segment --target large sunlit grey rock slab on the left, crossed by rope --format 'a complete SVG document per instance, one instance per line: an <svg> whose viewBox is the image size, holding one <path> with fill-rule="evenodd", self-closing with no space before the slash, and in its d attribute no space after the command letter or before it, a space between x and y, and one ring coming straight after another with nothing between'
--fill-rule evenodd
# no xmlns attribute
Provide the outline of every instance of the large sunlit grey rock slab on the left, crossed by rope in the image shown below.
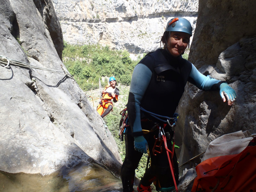
<svg viewBox="0 0 256 192"><path fill-rule="evenodd" d="M51 1L1 0L0 55L66 70ZM5 60L7 63L7 60ZM114 138L84 92L62 73L0 65L0 170L50 174L95 163L118 174Z"/></svg>

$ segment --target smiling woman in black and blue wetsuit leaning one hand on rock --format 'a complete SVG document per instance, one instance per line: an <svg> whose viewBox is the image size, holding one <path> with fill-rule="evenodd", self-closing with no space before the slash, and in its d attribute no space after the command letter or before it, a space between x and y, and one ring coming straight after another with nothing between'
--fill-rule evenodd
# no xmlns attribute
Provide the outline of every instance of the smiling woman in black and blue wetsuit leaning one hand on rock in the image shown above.
<svg viewBox="0 0 256 192"><path fill-rule="evenodd" d="M192 27L188 20L179 17L168 21L161 39L164 48L147 54L134 68L127 103L131 129L124 136L126 154L121 169L123 192L133 192L135 169L147 148L151 165L140 180L138 191L151 191L150 185L154 181L157 181L158 191L170 191L174 183L178 183L175 152L173 175L164 143L161 144L161 153L154 146L160 127L168 135L167 146L172 149L174 132L172 123L167 120L177 117L175 110L187 82L202 90L220 91L221 98L224 102L227 100L228 105L232 105L236 98L236 92L225 81L204 76L191 62L182 58L191 36Z"/></svg>

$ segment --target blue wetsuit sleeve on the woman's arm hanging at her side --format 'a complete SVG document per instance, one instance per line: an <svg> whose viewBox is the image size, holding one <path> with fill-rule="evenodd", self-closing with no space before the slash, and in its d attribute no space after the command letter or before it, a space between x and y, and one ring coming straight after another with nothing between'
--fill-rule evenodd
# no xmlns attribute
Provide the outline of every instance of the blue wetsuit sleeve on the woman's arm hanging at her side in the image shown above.
<svg viewBox="0 0 256 192"><path fill-rule="evenodd" d="M140 124L140 101L150 83L151 70L142 63L135 66L127 103L129 122L133 136L143 135Z"/></svg>

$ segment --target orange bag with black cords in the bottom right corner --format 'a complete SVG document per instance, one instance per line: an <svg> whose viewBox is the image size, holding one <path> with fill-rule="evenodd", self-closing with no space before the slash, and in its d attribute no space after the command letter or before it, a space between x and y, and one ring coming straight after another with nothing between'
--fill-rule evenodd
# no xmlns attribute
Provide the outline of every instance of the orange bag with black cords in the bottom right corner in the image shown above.
<svg viewBox="0 0 256 192"><path fill-rule="evenodd" d="M256 192L256 139L241 153L206 159L196 166L191 192Z"/></svg>

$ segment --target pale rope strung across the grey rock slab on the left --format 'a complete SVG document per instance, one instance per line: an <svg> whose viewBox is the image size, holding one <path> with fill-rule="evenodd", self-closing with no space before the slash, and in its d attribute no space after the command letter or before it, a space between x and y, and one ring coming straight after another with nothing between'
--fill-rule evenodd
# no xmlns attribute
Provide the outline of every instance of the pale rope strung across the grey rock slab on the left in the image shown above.
<svg viewBox="0 0 256 192"><path fill-rule="evenodd" d="M42 68L42 67L38 67L38 66L31 65L31 64L28 64L28 63L24 63L24 62L21 62L21 61L8 59L4 56L0 56L0 63L5 65L4 67L2 67L0 69L7 68L10 64L12 64L12 65L15 65L15 66L20 66L20 67L25 67L25 68L42 69L42 70L50 71L50 72L53 72L53 73L58 73L58 74L61 74L61 75L65 75L65 76L68 76L71 79L74 79L74 77L67 70L65 70L62 65L60 65L62 70L52 70L52 69Z"/></svg>

